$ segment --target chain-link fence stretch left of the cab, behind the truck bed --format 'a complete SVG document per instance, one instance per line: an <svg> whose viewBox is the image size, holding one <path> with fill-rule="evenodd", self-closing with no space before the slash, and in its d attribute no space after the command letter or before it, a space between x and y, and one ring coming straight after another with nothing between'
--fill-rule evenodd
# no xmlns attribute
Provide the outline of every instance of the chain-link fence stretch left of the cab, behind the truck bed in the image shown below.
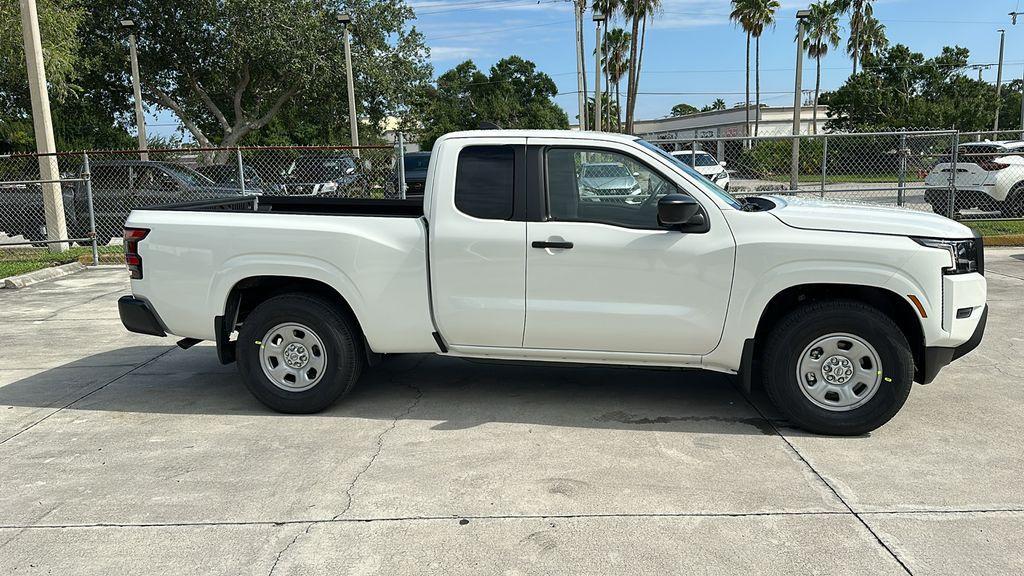
<svg viewBox="0 0 1024 576"><path fill-rule="evenodd" d="M253 195L422 197L425 159L410 155L407 167L400 150L401 142L90 151L46 157L52 169L38 155L0 157L0 278L79 259L120 262L125 220L145 206ZM46 172L59 176L41 177ZM47 193L62 202L62 231L44 204Z"/></svg>

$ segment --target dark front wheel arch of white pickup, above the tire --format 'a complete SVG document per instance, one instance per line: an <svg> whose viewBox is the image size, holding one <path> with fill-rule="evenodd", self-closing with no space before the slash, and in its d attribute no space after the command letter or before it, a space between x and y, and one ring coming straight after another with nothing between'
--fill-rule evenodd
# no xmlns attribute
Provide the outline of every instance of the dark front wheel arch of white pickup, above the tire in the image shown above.
<svg viewBox="0 0 1024 576"><path fill-rule="evenodd" d="M913 304L892 290L877 286L853 284L800 284L785 288L772 296L761 311L753 338L743 343L740 382L750 392L754 387L752 375L759 370L759 353L771 329L791 311L804 303L828 299L863 302L878 308L896 323L906 336L913 354L914 380L921 381L920 367L925 354L925 331Z"/></svg>

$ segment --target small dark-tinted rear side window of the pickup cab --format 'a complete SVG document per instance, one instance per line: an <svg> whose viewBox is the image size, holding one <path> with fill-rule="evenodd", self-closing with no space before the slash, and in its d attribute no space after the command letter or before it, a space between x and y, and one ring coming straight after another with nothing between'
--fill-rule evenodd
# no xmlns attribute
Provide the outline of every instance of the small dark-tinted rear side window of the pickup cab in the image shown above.
<svg viewBox="0 0 1024 576"><path fill-rule="evenodd" d="M515 190L515 150L511 146L473 146L459 153L455 175L455 205L477 218L512 217Z"/></svg>

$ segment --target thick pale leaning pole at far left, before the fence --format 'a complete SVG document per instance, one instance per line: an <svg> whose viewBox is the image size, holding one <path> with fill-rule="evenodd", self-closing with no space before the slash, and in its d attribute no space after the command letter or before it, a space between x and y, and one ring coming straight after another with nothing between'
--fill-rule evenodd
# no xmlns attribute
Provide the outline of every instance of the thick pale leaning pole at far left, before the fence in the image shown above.
<svg viewBox="0 0 1024 576"><path fill-rule="evenodd" d="M22 35L25 38L25 60L29 73L29 93L32 96L32 127L39 153L39 179L43 190L43 212L46 216L46 240L68 238L63 197L60 195L60 170L57 167L53 122L50 120L50 95L46 89L43 66L43 43L39 37L39 13L36 0L22 0ZM67 242L49 244L53 252L68 250Z"/></svg>

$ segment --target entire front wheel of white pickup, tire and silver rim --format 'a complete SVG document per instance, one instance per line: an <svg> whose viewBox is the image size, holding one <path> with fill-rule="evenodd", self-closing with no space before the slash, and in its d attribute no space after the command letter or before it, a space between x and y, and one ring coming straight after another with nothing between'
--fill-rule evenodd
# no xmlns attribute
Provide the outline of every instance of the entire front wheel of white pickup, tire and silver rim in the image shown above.
<svg viewBox="0 0 1024 576"><path fill-rule="evenodd" d="M874 307L831 300L783 318L763 351L775 406L812 433L856 436L888 422L913 384L906 336Z"/></svg>

